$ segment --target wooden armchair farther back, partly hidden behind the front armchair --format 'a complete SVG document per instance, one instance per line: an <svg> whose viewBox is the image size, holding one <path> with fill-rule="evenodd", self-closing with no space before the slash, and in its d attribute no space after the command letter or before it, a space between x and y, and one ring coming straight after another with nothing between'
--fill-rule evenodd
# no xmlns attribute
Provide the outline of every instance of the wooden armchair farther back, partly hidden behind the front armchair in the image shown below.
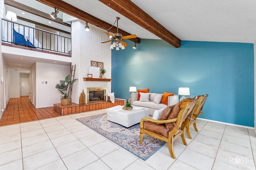
<svg viewBox="0 0 256 170"><path fill-rule="evenodd" d="M189 139L192 139L191 135L190 135L190 125L193 124L195 130L198 132L198 129L196 127L196 118L201 114L204 113L202 111L203 107L204 107L204 103L208 98L208 94L206 95L202 95L202 96L196 96L194 99L198 99L193 111L188 115L187 119L184 121L184 123L182 123L182 130L185 130L186 128L186 132L188 134ZM182 133L182 135L184 135L185 138L185 133ZM186 142L186 141L185 141ZM184 143L185 144L185 143Z"/></svg>

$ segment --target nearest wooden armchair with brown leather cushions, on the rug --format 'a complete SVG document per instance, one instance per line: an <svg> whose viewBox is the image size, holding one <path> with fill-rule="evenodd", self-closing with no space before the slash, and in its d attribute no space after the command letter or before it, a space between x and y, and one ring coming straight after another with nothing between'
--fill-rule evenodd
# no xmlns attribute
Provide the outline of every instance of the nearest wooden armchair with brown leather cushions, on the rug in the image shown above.
<svg viewBox="0 0 256 170"><path fill-rule="evenodd" d="M176 158L173 152L172 143L174 139L182 134L181 125L188 114L194 108L197 99L185 99L176 104L166 120L154 120L144 117L140 121L140 143L142 143L143 134L150 135L162 141L168 142L168 148L172 158ZM169 106L172 107L172 106ZM184 132L183 132L184 133ZM183 143L184 140L182 139ZM184 143L185 144L185 143Z"/></svg>

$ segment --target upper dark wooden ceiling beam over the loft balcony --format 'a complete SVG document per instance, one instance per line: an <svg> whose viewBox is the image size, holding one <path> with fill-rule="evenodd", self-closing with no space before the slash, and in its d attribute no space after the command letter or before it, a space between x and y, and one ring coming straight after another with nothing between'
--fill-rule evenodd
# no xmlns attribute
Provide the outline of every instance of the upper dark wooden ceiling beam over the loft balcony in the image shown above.
<svg viewBox="0 0 256 170"><path fill-rule="evenodd" d="M50 14L47 14L45 12L42 12L40 10L36 10L34 8L31 8L30 6L26 6L24 4L21 4L17 1L14 1L14 0L4 0L4 4L8 5L8 6L12 6L14 8L17 8L19 10L22 10L22 11L25 11L25 12L28 12L30 14L34 14L36 16L40 16L42 18L45 18L47 20L51 20L53 22L57 22L57 23L60 23L62 25L65 25L65 26L68 26L70 27L70 24L67 24L67 23L64 23L62 19L60 18L56 18L55 20L50 17ZM54 11L53 11L54 12Z"/></svg>

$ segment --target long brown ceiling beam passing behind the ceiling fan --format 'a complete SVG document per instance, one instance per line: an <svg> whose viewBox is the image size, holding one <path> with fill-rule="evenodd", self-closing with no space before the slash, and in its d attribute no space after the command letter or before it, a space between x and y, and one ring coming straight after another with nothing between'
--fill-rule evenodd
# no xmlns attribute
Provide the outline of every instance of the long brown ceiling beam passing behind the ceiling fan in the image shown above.
<svg viewBox="0 0 256 170"><path fill-rule="evenodd" d="M82 21L87 21L88 23L96 26L96 27L99 27L101 29L109 29L112 25L105 22L105 21L102 21L100 20L99 18L96 18L62 0L37 0L38 2L42 2L48 6L52 6L52 7L56 7L56 9L66 13L66 14L69 14L71 16L74 16ZM116 27L113 26L110 30L110 32L112 33L116 33ZM126 36L126 35L131 35L130 33L122 30L122 29L119 29L118 28L118 33L121 33L123 36ZM140 43L140 38L133 38L133 39L129 39L133 42L136 42L136 43Z"/></svg>

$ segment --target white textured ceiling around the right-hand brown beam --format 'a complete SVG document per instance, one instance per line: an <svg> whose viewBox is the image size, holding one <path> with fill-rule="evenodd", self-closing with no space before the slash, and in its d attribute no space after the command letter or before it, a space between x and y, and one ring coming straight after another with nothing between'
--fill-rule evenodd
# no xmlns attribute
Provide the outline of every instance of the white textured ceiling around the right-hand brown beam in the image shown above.
<svg viewBox="0 0 256 170"><path fill-rule="evenodd" d="M159 39L97 0L63 0L144 39ZM132 0L181 40L254 43L255 0Z"/></svg>

